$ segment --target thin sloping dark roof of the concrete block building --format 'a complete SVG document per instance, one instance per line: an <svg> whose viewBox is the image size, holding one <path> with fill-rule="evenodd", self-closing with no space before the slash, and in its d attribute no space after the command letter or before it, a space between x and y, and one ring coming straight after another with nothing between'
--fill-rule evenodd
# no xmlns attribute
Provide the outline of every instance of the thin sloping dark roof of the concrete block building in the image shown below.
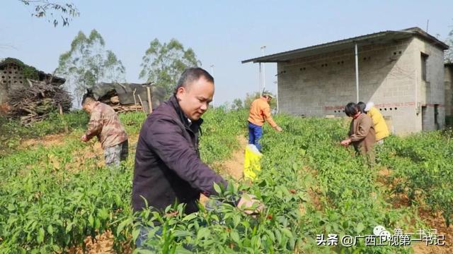
<svg viewBox="0 0 453 254"><path fill-rule="evenodd" d="M300 59L306 56L314 56L317 54L325 54L329 52L337 52L343 49L351 49L357 43L359 46L371 45L371 44L388 44L398 40L403 40L408 37L418 36L422 37L423 40L427 40L433 45L440 47L440 49L448 49L448 45L436 37L429 35L427 32L420 28L408 28L398 31L384 31L375 32L369 35L362 35L358 37L352 37L345 40L338 40L336 42L327 42L324 44L317 44L310 47L304 47L301 49L294 49L287 52L281 52L277 54L270 54L268 56L260 56L254 59L243 60L242 63L277 63L290 61L292 59Z"/></svg>

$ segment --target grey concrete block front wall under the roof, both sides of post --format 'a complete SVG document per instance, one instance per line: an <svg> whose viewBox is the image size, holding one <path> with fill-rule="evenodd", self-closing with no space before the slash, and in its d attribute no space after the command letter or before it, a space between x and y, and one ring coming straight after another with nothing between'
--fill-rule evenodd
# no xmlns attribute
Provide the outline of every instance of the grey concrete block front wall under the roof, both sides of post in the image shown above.
<svg viewBox="0 0 453 254"><path fill-rule="evenodd" d="M418 131L415 123L412 39L359 47L360 101L373 101L396 133ZM305 116L345 116L356 102L354 49L278 63L281 111ZM421 123L419 124L421 129Z"/></svg>

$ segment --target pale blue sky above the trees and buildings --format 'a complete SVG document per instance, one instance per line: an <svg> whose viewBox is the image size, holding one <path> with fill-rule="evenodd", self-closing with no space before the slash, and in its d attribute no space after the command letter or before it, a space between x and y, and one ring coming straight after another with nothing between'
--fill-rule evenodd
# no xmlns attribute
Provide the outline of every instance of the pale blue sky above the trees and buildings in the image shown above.
<svg viewBox="0 0 453 254"><path fill-rule="evenodd" d="M258 90L258 64L241 60L384 30L418 26L444 40L453 25L453 1L73 1L81 15L54 28L30 17L18 0L1 0L0 58L15 57L52 72L79 30L96 28L106 48L126 67L128 82L141 82L140 63L149 42L176 38L192 47L211 71L216 104ZM276 65L265 66L275 92Z"/></svg>

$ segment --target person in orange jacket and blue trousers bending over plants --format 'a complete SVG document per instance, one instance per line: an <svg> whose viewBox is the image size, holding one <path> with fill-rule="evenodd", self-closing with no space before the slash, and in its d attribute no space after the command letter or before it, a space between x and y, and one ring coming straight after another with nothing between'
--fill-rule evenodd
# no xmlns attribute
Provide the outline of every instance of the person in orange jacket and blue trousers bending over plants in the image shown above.
<svg viewBox="0 0 453 254"><path fill-rule="evenodd" d="M274 119L270 115L269 102L272 99L272 95L268 92L263 92L260 98L255 99L248 112L248 143L256 145L256 148L261 152L261 145L258 142L263 136L263 124L268 121L275 131L282 131L280 126L277 126Z"/></svg>

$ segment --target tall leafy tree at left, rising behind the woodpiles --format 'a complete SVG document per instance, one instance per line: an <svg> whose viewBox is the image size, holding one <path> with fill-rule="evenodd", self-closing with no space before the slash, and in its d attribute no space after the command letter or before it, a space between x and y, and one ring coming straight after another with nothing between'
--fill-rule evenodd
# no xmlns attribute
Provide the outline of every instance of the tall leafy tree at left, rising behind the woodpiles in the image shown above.
<svg viewBox="0 0 453 254"><path fill-rule="evenodd" d="M112 51L105 49L105 41L96 30L91 30L88 37L79 32L71 49L59 56L56 73L66 78L65 84L78 102L86 89L96 83L125 80L125 67Z"/></svg>

